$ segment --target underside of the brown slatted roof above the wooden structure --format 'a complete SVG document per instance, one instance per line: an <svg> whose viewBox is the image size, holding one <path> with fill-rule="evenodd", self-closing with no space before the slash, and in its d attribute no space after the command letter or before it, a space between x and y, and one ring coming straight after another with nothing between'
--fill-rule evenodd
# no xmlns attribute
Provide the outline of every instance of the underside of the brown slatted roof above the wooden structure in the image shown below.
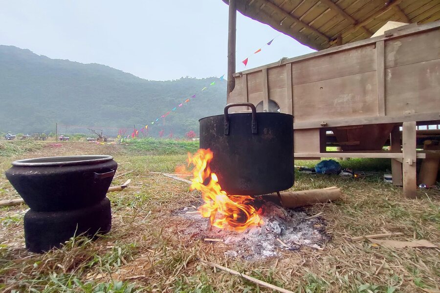
<svg viewBox="0 0 440 293"><path fill-rule="evenodd" d="M236 1L243 15L317 50L370 38L387 21L440 20L440 0Z"/></svg>

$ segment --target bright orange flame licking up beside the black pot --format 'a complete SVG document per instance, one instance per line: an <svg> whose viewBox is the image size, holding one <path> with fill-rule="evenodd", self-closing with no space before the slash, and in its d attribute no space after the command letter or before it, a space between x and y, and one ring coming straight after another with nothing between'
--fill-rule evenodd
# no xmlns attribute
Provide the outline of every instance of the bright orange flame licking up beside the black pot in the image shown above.
<svg viewBox="0 0 440 293"><path fill-rule="evenodd" d="M209 218L214 227L238 232L263 224L255 208L249 205L252 197L228 196L221 190L217 175L209 167L212 158L209 148L200 148L194 156L188 153L188 166L194 165L191 189L199 190L205 201L198 209L202 217Z"/></svg>

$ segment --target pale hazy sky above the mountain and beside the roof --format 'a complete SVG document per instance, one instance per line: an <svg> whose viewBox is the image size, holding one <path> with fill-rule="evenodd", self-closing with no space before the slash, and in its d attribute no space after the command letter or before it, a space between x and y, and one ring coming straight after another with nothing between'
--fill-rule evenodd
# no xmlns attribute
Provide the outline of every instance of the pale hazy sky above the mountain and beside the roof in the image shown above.
<svg viewBox="0 0 440 293"><path fill-rule="evenodd" d="M226 73L228 6L221 0L0 0L0 5L3 45L101 63L149 80ZM268 25L237 14L237 71L249 55L246 68L309 52Z"/></svg>

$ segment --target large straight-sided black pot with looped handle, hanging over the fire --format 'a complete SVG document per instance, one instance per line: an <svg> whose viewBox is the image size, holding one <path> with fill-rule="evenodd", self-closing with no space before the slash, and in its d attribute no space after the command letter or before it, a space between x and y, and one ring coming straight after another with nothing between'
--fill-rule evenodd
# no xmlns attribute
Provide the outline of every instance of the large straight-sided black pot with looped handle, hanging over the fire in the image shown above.
<svg viewBox="0 0 440 293"><path fill-rule="evenodd" d="M228 114L234 106L252 112ZM230 195L259 195L292 187L293 116L257 113L250 103L228 104L224 115L200 123L200 148L213 151L211 171Z"/></svg>

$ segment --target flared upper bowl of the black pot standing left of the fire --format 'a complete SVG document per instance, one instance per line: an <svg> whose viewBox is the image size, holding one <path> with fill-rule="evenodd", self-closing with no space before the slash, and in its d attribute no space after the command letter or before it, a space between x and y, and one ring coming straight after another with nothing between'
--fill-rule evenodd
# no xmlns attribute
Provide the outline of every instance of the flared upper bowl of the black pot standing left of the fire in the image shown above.
<svg viewBox="0 0 440 293"><path fill-rule="evenodd" d="M100 202L118 164L106 155L19 160L5 174L34 211L80 209Z"/></svg>

